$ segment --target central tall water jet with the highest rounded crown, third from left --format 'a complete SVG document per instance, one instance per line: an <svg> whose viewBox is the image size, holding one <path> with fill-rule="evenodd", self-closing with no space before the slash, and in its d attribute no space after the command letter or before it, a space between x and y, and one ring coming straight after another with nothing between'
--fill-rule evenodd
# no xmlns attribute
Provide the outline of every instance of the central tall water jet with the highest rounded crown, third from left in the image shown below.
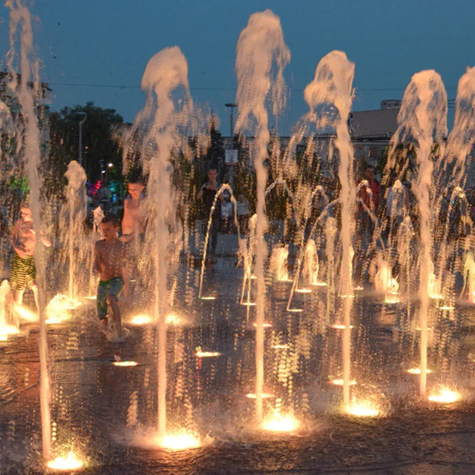
<svg viewBox="0 0 475 475"><path fill-rule="evenodd" d="M264 312L266 287L264 282L264 256L266 243L265 197L267 173L264 161L267 159L269 143L269 118L265 103L271 96L273 114L277 116L285 102L284 68L290 61L290 51L284 42L280 19L270 10L250 16L246 28L239 35L236 56L238 90L238 120L235 131L253 129L255 149L254 168L257 180L256 201L256 416L262 422L262 390L264 385ZM275 62L276 68L273 63Z"/></svg>

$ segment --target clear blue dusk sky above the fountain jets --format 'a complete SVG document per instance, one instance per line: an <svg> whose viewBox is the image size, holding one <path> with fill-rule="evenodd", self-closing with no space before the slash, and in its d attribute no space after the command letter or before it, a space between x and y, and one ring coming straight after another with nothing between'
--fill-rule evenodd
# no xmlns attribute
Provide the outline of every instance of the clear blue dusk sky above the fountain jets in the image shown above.
<svg viewBox="0 0 475 475"><path fill-rule="evenodd" d="M356 64L355 111L400 99L422 69L438 71L453 99L465 67L475 64L474 0L38 0L30 11L53 109L94 101L133 121L144 104L145 65L160 49L176 45L188 60L194 101L207 102L228 135L224 104L235 100L239 33L251 14L266 8L280 17L291 51L285 69L291 99L281 133L307 111L302 90L333 49ZM6 51L8 9L0 16Z"/></svg>

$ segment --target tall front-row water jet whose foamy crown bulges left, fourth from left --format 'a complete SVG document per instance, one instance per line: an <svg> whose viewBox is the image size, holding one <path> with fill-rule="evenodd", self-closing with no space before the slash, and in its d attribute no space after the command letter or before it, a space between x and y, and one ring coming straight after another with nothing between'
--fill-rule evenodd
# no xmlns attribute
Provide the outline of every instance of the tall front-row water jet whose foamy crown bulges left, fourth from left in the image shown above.
<svg viewBox="0 0 475 475"><path fill-rule="evenodd" d="M335 145L340 163L341 243L340 293L344 299L343 330L343 402L348 405L350 382L350 312L352 305L351 249L355 232L354 202L355 183L353 176L353 147L348 131L348 116L351 108L351 85L354 63L342 51L332 51L317 65L315 79L304 91L305 101L317 116L319 128L331 127L336 132Z"/></svg>

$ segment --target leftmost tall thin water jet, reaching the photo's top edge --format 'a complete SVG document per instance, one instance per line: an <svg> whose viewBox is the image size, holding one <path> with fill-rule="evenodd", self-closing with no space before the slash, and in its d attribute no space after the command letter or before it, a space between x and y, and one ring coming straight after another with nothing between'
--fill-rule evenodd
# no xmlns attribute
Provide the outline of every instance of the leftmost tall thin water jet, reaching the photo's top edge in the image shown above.
<svg viewBox="0 0 475 475"><path fill-rule="evenodd" d="M10 49L7 54L7 70L12 72L11 81L8 87L16 90L16 96L22 115L23 129L23 154L25 159L25 170L30 186L30 206L33 217L33 229L39 239L41 235L41 214L40 189L41 180L39 170L41 168L40 157L40 137L38 121L35 114L33 94L37 90L38 60L34 56L33 33L31 26L31 16L20 0L14 2L7 0L5 6L10 8L9 37ZM16 33L19 29L20 40L20 74L13 73L15 60ZM33 84L33 89L30 85ZM38 285L38 306L39 306L39 355L40 355L40 407L41 407L41 429L43 443L43 457L47 459L51 451L51 415L50 415L50 384L48 375L48 348L45 323L45 260L41 246L36 246L34 253Z"/></svg>

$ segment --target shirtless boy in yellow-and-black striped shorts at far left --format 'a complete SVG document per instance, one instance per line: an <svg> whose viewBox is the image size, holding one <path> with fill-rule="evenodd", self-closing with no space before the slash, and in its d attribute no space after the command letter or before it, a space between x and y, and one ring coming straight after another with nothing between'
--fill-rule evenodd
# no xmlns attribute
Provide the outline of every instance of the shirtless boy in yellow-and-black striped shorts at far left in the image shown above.
<svg viewBox="0 0 475 475"><path fill-rule="evenodd" d="M14 291L14 299L19 305L23 302L23 292L27 288L32 289L36 311L39 313L38 286L35 282L36 267L34 265L36 234L33 228L32 210L27 203L23 203L20 213L21 219L13 226L10 236L10 242L15 249L10 288ZM51 246L51 242L47 239L40 237L40 240L45 246Z"/></svg>

